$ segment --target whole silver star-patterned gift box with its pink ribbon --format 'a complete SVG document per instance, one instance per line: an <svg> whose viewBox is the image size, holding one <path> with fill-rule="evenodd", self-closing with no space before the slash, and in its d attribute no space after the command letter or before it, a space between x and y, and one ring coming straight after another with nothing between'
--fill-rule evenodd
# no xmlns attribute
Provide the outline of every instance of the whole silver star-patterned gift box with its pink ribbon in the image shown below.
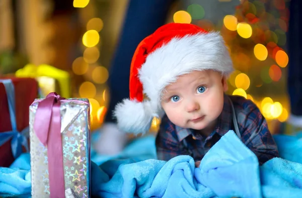
<svg viewBox="0 0 302 198"><path fill-rule="evenodd" d="M89 108L87 99L53 92L30 106L33 198L90 197Z"/></svg>

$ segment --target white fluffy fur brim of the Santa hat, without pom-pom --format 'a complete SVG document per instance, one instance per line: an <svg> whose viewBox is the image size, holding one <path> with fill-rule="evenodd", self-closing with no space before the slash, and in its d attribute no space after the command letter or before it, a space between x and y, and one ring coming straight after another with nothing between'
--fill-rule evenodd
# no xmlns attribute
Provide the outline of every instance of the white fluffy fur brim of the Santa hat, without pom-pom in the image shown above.
<svg viewBox="0 0 302 198"><path fill-rule="evenodd" d="M233 71L229 50L218 32L173 38L148 54L139 70L139 80L152 107L160 110L162 92L167 85L175 82L180 75L206 69L226 76Z"/></svg>

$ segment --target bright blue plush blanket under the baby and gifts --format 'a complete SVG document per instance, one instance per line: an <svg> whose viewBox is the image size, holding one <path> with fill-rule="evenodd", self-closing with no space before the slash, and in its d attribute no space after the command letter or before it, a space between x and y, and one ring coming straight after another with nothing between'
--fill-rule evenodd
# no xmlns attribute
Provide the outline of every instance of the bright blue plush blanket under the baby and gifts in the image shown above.
<svg viewBox="0 0 302 198"><path fill-rule="evenodd" d="M275 136L282 158L259 166L235 135L225 134L194 167L190 156L155 157L154 137L144 137L114 156L92 155L92 194L101 197L301 197L301 140ZM284 141L283 141L284 140ZM139 149L138 149L139 148ZM297 148L297 149L296 149ZM133 155L133 153L139 153ZM300 150L301 151L301 150ZM30 194L29 154L0 168L0 196ZM6 194L4 194L6 193Z"/></svg>

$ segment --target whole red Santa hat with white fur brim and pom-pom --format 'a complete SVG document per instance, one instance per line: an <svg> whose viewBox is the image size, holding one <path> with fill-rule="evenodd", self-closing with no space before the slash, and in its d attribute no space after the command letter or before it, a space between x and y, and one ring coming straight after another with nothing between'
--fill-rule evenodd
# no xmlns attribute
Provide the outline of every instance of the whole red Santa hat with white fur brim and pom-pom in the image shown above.
<svg viewBox="0 0 302 198"><path fill-rule="evenodd" d="M154 117L164 115L164 88L193 70L212 69L229 76L230 53L218 32L192 24L171 23L160 27L137 46L130 68L130 98L117 104L118 127L139 134L149 130Z"/></svg>

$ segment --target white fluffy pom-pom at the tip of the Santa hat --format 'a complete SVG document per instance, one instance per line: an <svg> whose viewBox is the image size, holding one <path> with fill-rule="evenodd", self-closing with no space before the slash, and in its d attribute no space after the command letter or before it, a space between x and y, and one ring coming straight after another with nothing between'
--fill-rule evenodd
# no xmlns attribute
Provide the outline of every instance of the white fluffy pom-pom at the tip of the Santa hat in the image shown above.
<svg viewBox="0 0 302 198"><path fill-rule="evenodd" d="M154 112L149 101L139 103L124 99L116 105L113 115L120 130L137 135L149 131Z"/></svg>

